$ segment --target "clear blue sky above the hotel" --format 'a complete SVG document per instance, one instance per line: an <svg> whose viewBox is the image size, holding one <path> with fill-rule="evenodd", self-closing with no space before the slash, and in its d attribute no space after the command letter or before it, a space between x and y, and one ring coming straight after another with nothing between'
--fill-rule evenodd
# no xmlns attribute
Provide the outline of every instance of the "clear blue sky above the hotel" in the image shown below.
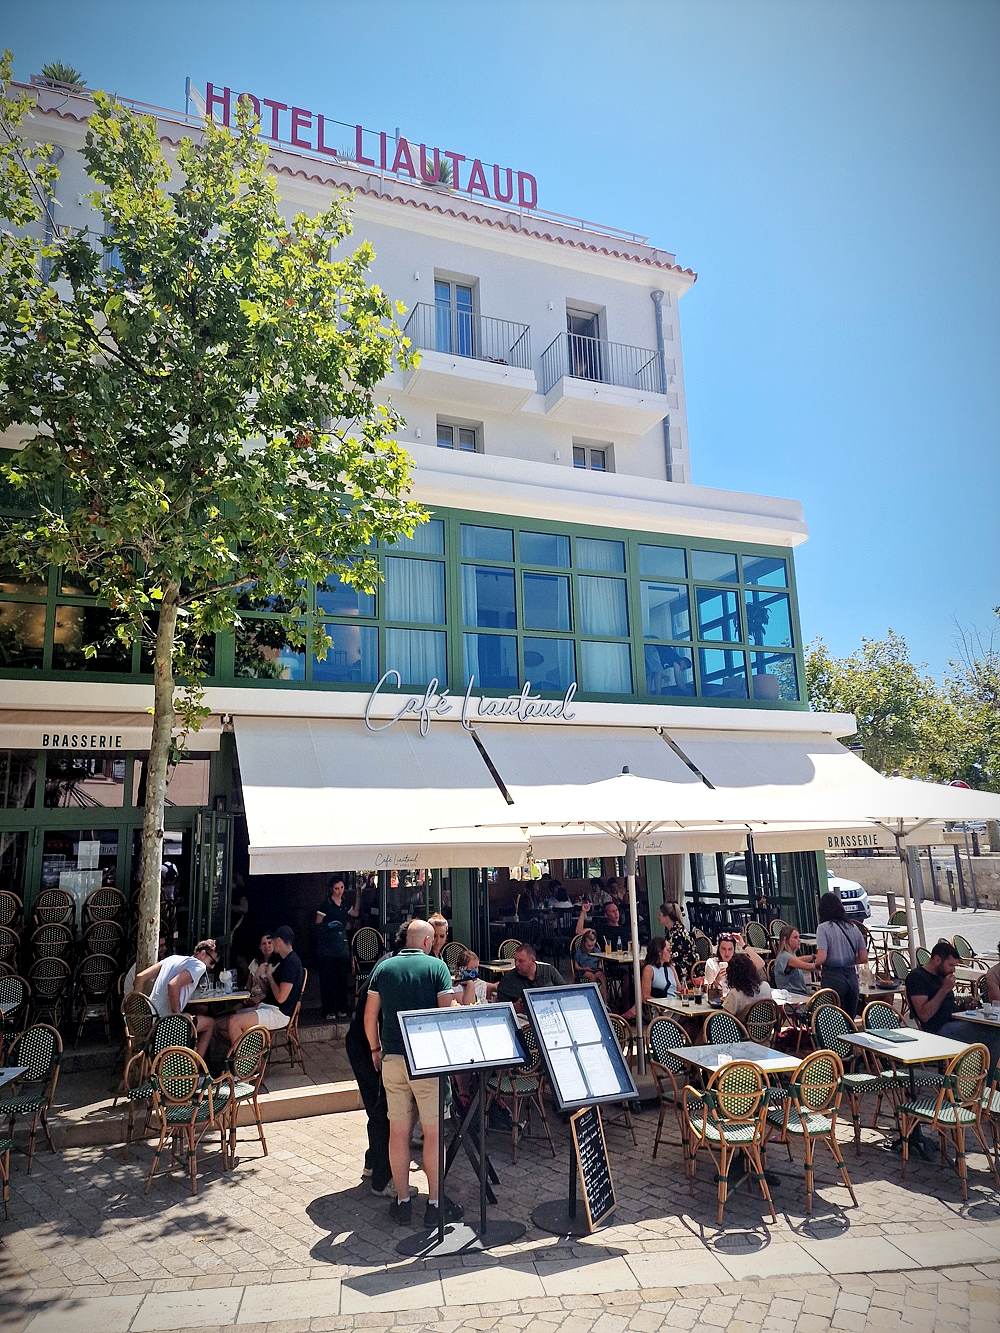
<svg viewBox="0 0 1000 1333"><path fill-rule="evenodd" d="M257 92L673 251L693 480L803 501L803 633L940 673L1000 603L996 0L0 0L27 79ZM993 385L993 389L989 385Z"/></svg>

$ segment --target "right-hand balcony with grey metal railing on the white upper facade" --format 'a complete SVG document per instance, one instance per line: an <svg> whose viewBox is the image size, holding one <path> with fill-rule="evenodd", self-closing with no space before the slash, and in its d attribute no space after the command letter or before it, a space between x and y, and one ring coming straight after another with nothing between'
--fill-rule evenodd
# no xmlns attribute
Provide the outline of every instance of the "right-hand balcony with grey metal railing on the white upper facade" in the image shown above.
<svg viewBox="0 0 1000 1333"><path fill-rule="evenodd" d="M580 333L560 333L543 352L541 392L547 416L584 429L641 435L671 407L659 352Z"/></svg>

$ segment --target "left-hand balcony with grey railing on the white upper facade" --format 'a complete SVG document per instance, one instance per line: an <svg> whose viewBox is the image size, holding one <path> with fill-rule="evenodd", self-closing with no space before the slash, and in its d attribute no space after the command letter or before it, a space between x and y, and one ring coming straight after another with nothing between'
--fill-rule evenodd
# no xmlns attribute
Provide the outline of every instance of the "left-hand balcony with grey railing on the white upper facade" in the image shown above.
<svg viewBox="0 0 1000 1333"><path fill-rule="evenodd" d="M539 387L527 324L449 305L415 305L403 332L421 352L408 393L439 404L516 412Z"/></svg>

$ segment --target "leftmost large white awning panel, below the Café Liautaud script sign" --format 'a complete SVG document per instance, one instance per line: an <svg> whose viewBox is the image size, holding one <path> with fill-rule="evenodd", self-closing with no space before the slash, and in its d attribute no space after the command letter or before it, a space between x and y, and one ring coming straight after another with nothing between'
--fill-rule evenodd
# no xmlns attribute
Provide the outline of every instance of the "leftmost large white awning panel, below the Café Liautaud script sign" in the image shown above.
<svg viewBox="0 0 1000 1333"><path fill-rule="evenodd" d="M509 806L469 732L356 718L236 717L252 874L517 865ZM437 829L437 832L432 832Z"/></svg>

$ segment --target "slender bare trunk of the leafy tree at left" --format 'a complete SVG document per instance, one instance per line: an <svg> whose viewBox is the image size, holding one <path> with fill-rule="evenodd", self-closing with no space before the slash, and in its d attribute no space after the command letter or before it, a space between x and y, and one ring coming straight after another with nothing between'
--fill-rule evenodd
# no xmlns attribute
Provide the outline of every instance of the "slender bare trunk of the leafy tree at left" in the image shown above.
<svg viewBox="0 0 1000 1333"><path fill-rule="evenodd" d="M160 603L153 655L153 734L145 770L143 812L143 873L139 881L139 942L136 969L156 962L160 934L160 868L163 865L163 812L173 734L173 639L177 629L180 584L168 584Z"/></svg>

